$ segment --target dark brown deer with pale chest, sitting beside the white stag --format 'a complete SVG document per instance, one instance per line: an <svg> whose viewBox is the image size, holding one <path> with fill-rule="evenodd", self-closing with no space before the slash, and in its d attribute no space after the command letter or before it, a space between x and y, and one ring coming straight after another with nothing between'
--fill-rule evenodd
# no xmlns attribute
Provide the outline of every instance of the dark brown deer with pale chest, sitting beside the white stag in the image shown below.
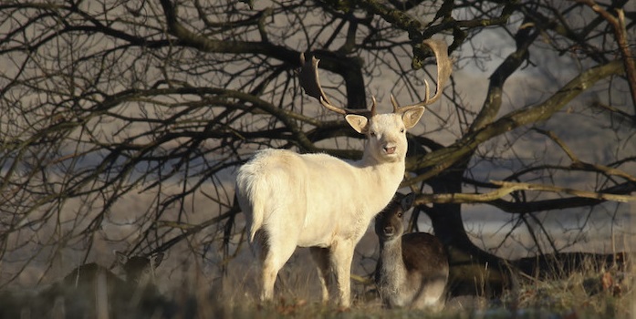
<svg viewBox="0 0 636 319"><path fill-rule="evenodd" d="M439 310L448 281L448 256L442 243L429 233L402 235L402 215L411 208L413 199L413 194L396 193L375 219L380 239L375 282L387 307Z"/></svg>

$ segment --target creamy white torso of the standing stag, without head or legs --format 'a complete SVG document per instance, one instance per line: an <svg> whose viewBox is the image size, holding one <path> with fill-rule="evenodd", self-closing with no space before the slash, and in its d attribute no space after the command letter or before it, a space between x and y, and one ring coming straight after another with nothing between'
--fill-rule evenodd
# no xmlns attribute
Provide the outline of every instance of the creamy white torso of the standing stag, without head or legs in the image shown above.
<svg viewBox="0 0 636 319"><path fill-rule="evenodd" d="M267 224L268 232L276 232L291 224L301 230L299 246L325 245L338 236L359 239L399 184L390 188L367 170L327 154L264 149L239 169L239 203L255 223L252 231ZM361 185L367 190L360 191ZM334 234L336 228L345 233Z"/></svg>

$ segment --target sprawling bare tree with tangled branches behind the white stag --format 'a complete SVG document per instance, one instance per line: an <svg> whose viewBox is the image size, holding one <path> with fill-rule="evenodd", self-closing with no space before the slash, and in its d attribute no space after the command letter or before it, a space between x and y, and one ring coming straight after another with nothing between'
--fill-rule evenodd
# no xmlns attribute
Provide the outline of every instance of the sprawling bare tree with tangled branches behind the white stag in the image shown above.
<svg viewBox="0 0 636 319"><path fill-rule="evenodd" d="M622 203L636 190L627 5L4 2L0 256L15 267L2 283L69 249L86 261L104 241L230 258L245 242L231 180L253 150L360 157L342 118L303 98L300 54L320 58L334 103L388 105L391 92L410 103L434 69L432 36L449 43L455 75L410 135L413 227L428 215L454 264L503 266L496 248L520 233L528 254L566 250L586 221L616 225L633 210ZM619 31L600 9L624 13ZM497 245L469 236L474 207L508 216ZM561 217L581 222L555 230ZM573 235L557 242L564 229Z"/></svg>

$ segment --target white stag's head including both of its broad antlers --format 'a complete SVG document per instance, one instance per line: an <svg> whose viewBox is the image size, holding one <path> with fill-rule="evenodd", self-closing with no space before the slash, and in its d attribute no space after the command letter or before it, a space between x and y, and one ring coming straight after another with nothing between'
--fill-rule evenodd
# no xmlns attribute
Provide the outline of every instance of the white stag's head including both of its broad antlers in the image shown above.
<svg viewBox="0 0 636 319"><path fill-rule="evenodd" d="M443 41L427 39L423 45L431 47L437 59L437 88L433 98L430 97L429 84L426 87L424 100L420 103L400 107L391 94L393 112L387 114L376 113L376 100L372 98L371 109L338 108L329 102L318 79L318 62L316 57L306 61L300 56L303 65L300 71L300 84L305 92L318 98L323 107L342 114L351 128L367 136L365 157L371 157L378 162L403 160L406 156L406 130L411 129L422 118L424 106L432 104L442 96L443 85L451 75L451 60L448 58L447 46Z"/></svg>

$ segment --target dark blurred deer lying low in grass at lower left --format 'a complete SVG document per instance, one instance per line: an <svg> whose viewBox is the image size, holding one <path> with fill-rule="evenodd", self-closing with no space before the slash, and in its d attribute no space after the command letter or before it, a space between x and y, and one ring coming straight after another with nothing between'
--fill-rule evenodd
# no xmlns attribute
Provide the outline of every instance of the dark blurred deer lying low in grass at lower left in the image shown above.
<svg viewBox="0 0 636 319"><path fill-rule="evenodd" d="M153 254L150 258L129 258L122 252L115 254L125 280L95 262L83 264L41 294L50 307L39 311L61 312L73 318L103 318L109 317L111 310L130 309L144 298L154 298L157 295L154 271L161 264L163 253ZM63 311L53 309L52 304L56 304L56 308L62 305L56 302L60 299Z"/></svg>

